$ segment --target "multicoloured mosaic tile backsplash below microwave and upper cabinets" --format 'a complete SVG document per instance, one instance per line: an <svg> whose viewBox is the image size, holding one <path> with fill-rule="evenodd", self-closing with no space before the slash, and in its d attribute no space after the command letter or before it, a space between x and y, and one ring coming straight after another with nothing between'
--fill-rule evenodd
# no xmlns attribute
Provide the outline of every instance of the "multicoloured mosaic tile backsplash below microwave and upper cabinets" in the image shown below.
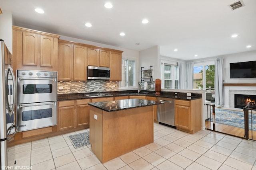
<svg viewBox="0 0 256 170"><path fill-rule="evenodd" d="M62 89L60 89L62 87ZM119 90L119 82L108 80L87 80L86 82L58 81L58 94L111 92Z"/></svg>

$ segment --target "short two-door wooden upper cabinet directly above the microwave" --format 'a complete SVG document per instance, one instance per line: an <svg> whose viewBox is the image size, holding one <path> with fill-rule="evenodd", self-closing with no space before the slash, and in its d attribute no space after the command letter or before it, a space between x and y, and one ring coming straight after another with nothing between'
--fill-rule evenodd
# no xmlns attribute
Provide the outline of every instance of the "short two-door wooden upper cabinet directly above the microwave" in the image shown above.
<svg viewBox="0 0 256 170"><path fill-rule="evenodd" d="M110 67L110 51L88 48L88 66Z"/></svg>

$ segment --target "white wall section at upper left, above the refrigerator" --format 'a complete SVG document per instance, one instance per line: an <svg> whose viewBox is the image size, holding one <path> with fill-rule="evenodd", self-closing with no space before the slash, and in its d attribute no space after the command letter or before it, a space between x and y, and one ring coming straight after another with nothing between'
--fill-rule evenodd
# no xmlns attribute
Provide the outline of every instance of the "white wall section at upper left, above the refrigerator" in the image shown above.
<svg viewBox="0 0 256 170"><path fill-rule="evenodd" d="M3 10L0 14L0 39L3 39L12 53L12 13Z"/></svg>

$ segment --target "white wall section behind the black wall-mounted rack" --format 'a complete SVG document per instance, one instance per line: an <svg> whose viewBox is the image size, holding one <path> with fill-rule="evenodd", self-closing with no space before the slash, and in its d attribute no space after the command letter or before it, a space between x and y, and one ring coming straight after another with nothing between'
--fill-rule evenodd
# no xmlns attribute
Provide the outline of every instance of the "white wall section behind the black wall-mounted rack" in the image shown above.
<svg viewBox="0 0 256 170"><path fill-rule="evenodd" d="M160 78L160 55L159 55L159 46L154 46L149 49L145 49L140 51L140 67L142 70L148 70L150 66L152 69L153 81L157 78ZM140 74L140 73L139 73ZM138 75L140 78L141 75ZM144 81L149 81L149 79L145 79Z"/></svg>

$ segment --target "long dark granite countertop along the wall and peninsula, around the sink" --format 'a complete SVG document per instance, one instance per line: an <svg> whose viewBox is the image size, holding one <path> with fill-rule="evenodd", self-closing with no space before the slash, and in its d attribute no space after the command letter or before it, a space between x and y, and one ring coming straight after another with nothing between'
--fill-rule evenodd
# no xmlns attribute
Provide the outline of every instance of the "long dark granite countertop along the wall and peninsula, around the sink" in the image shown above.
<svg viewBox="0 0 256 170"><path fill-rule="evenodd" d="M93 92L95 93L95 92ZM195 100L202 98L201 94L192 93L191 96L187 96L186 93L179 92L161 92L160 95L156 95L154 91L142 90L139 94L137 90L127 90L127 91L114 91L114 92L100 92L100 93L108 93L113 96L98 96L98 98L102 97L115 97L115 96L152 96L152 97L161 97L161 98L175 98L181 100ZM72 94L58 94L58 101L62 100L79 100L79 99L90 99L88 94L92 93L72 93Z"/></svg>

